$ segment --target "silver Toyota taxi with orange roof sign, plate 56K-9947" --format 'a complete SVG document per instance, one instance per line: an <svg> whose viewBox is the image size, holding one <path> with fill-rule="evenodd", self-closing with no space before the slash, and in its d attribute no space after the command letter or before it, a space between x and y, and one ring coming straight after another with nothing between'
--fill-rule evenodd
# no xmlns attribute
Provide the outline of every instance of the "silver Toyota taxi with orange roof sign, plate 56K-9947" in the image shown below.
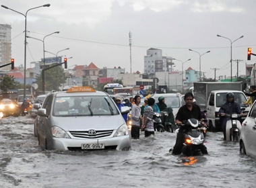
<svg viewBox="0 0 256 188"><path fill-rule="evenodd" d="M121 112L107 93L91 87L49 93L37 113L38 144L46 150L129 150Z"/></svg>

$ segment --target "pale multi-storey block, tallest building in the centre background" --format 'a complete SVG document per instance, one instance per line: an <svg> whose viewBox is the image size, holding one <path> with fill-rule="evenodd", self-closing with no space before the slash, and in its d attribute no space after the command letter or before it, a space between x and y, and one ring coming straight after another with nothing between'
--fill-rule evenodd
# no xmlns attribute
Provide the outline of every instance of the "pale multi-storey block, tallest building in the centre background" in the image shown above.
<svg viewBox="0 0 256 188"><path fill-rule="evenodd" d="M162 50L150 48L147 50L147 56L144 56L144 73L172 71L173 64L172 57L162 56Z"/></svg>

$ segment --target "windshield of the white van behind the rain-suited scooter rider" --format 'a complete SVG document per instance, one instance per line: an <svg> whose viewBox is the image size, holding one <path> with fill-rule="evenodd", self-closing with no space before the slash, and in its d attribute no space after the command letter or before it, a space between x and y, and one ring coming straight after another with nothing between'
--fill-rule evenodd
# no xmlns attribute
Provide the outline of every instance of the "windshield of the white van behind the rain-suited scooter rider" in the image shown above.
<svg viewBox="0 0 256 188"><path fill-rule="evenodd" d="M247 107L243 102L247 101L243 93L234 92L234 101L236 101L241 107ZM221 107L226 103L226 93L216 93L216 107Z"/></svg>

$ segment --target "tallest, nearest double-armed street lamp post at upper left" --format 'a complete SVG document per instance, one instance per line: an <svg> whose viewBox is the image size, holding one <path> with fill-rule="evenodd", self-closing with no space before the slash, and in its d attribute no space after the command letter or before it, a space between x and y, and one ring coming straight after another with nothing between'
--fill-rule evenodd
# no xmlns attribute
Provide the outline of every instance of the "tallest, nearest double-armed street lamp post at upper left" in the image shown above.
<svg viewBox="0 0 256 188"><path fill-rule="evenodd" d="M9 9L11 11L15 11L16 13L20 13L21 15L23 15L25 17L25 42L24 42L24 93L23 93L23 97L26 98L26 45L27 45L27 14L28 11L32 10L32 9L38 9L40 7L50 7L51 4L45 4L45 5L41 5L38 7L34 7L31 9L28 9L26 11L26 13L20 13L19 11L15 11L13 9L10 9L9 7L6 7L5 5L1 5L1 7L5 8L5 9Z"/></svg>

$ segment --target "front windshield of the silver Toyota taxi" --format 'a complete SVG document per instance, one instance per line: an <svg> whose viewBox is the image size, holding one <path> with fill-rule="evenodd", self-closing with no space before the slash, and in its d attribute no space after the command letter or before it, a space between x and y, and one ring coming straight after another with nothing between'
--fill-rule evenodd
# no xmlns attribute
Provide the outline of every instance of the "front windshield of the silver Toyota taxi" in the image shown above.
<svg viewBox="0 0 256 188"><path fill-rule="evenodd" d="M119 110L110 97L56 97L53 106L53 115L62 117L117 114L119 114Z"/></svg>

